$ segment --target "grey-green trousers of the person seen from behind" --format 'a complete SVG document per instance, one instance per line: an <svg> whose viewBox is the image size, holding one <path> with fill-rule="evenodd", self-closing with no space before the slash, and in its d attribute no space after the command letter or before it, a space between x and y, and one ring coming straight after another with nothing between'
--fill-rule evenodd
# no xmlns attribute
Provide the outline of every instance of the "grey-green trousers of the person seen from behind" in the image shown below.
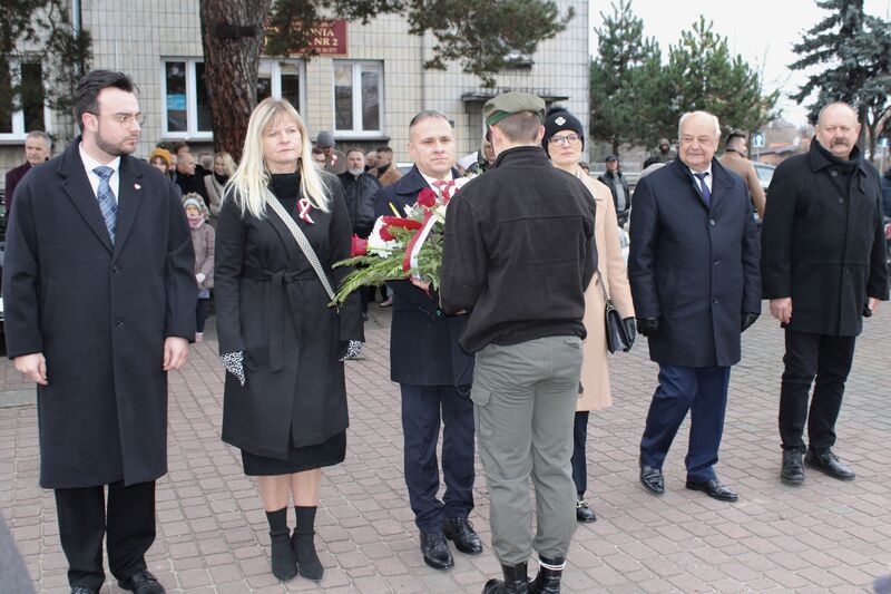
<svg viewBox="0 0 891 594"><path fill-rule="evenodd" d="M569 549L576 529L570 459L580 371L578 337L489 344L477 353L470 397L491 502L492 548L502 565L526 563L532 551L552 559Z"/></svg>

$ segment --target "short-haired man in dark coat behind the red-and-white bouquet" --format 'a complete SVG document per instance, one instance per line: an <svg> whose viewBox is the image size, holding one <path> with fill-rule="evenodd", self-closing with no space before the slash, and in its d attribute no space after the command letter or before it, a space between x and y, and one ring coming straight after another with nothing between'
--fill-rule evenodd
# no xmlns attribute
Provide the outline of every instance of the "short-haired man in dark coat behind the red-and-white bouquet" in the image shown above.
<svg viewBox="0 0 891 594"><path fill-rule="evenodd" d="M404 214L418 194L437 182L458 177L454 135L439 111L421 111L409 126L409 154L414 167L384 187L375 199L381 215ZM390 377L402 391L405 485L420 529L424 562L437 569L454 565L446 538L462 553L482 552L468 516L473 509L473 360L458 344L466 317L447 317L430 293L409 281L389 284L393 294ZM442 430L440 500L437 441Z"/></svg>

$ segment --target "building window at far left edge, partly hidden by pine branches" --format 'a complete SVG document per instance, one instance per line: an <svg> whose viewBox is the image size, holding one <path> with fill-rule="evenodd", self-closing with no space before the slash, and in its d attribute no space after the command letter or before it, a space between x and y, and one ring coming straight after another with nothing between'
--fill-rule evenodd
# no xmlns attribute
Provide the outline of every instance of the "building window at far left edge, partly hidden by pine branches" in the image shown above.
<svg viewBox="0 0 891 594"><path fill-rule="evenodd" d="M16 61L12 71L3 75L0 75L0 86L8 89L17 84L20 96L17 105L0 111L6 114L0 117L0 140L23 140L29 132L48 132L49 110L45 105L42 65L39 61Z"/></svg>

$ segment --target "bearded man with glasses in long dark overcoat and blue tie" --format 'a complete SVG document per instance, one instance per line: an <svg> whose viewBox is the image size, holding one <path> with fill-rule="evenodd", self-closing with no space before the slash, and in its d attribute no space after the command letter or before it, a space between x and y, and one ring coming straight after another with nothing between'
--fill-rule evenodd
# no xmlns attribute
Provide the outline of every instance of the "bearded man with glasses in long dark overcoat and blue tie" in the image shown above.
<svg viewBox="0 0 891 594"><path fill-rule="evenodd" d="M102 586L104 537L120 587L164 592L144 555L167 471L167 371L195 335L192 236L174 185L130 156L135 90L121 72L80 80L82 137L22 181L7 233L7 350L38 384L40 486L78 594Z"/></svg>

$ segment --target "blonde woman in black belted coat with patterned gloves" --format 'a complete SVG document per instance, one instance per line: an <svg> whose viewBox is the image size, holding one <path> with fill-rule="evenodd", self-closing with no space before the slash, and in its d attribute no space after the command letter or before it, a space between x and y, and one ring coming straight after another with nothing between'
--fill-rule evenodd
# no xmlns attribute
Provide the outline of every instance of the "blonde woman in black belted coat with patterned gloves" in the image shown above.
<svg viewBox="0 0 891 594"><path fill-rule="evenodd" d="M287 211L336 286L349 269L332 264L350 256L352 227L336 177L313 165L311 150L291 104L263 100L251 115L216 235L217 328L228 371L223 440L242 449L245 474L257 477L272 572L282 581L297 573L322 578L313 539L321 468L345 455L342 359L363 338L359 295L340 314L329 308L310 260L267 205L277 201Z"/></svg>

